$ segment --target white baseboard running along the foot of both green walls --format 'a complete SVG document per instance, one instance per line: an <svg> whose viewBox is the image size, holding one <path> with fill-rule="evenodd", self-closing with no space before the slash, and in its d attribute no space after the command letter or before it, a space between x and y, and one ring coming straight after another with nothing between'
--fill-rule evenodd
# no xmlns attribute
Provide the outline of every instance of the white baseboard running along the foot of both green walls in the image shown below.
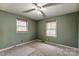
<svg viewBox="0 0 79 59"><path fill-rule="evenodd" d="M17 44L17 45L14 45L14 46L10 46L10 47L4 48L4 49L0 49L0 52L9 50L9 49L14 48L14 47L22 46L24 44L28 44L28 43L31 43L33 41L41 41L41 40L32 40L32 41L24 42L24 43ZM74 48L74 47L70 47L70 46L66 46L66 45L62 45L62 44L56 44L56 43L52 43L52 42L48 42L48 41L45 41L45 43L79 51L78 48Z"/></svg>

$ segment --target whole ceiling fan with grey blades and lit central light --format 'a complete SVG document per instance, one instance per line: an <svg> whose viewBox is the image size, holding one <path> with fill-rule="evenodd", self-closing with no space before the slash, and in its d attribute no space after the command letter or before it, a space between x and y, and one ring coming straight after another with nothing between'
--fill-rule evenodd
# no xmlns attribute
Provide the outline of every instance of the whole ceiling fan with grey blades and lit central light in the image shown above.
<svg viewBox="0 0 79 59"><path fill-rule="evenodd" d="M47 4L43 5L43 6L39 6L37 3L32 3L32 4L35 5L36 8L23 11L23 13L28 13L28 12L37 10L38 12L40 12L40 13L42 14L42 16L43 16L44 18L46 18L46 14L42 11L42 8L47 8L47 7L50 7L50 6L53 6L53 5L58 5L58 4L60 4L60 3L47 3Z"/></svg>

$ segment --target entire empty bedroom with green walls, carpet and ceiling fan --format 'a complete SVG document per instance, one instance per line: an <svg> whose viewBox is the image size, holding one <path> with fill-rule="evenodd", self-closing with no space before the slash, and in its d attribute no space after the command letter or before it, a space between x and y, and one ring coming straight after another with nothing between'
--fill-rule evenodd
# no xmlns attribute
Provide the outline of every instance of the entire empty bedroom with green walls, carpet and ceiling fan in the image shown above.
<svg viewBox="0 0 79 59"><path fill-rule="evenodd" d="M0 3L0 56L79 56L79 3Z"/></svg>

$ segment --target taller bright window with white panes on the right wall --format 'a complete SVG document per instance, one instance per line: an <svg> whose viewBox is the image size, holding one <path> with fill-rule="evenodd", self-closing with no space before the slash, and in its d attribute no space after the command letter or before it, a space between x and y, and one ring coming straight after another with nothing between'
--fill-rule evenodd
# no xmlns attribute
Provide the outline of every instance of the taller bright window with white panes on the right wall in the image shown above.
<svg viewBox="0 0 79 59"><path fill-rule="evenodd" d="M46 23L46 36L56 37L56 21Z"/></svg>

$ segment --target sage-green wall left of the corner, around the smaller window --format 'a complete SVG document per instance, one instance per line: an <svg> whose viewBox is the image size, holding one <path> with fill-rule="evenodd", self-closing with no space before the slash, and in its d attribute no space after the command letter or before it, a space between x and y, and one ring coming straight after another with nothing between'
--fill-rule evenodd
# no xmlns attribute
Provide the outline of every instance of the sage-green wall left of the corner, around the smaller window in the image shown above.
<svg viewBox="0 0 79 59"><path fill-rule="evenodd" d="M0 11L0 48L35 39L36 22L28 20L28 32L16 32L16 15Z"/></svg>

